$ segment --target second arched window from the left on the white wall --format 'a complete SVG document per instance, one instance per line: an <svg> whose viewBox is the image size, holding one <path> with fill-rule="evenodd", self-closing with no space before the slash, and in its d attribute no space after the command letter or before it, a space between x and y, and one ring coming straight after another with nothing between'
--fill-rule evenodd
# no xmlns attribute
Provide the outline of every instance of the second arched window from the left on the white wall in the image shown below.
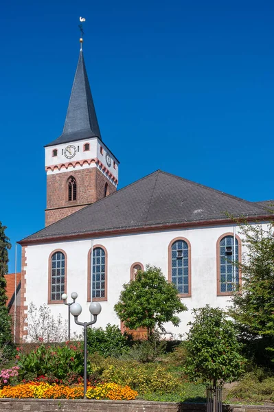
<svg viewBox="0 0 274 412"><path fill-rule="evenodd" d="M104 246L97 244L93 247L93 257L91 259L91 250L89 251L88 260L88 301L106 301L107 300L107 251ZM92 274L92 284L91 284Z"/></svg>

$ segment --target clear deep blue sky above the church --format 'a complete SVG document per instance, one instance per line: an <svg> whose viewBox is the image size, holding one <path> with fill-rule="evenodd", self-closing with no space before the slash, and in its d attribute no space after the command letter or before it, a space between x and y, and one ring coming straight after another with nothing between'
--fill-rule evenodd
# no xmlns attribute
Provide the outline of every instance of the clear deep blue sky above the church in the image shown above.
<svg viewBox="0 0 274 412"><path fill-rule="evenodd" d="M0 220L12 244L44 226L43 146L62 132L79 16L120 188L162 169L249 201L273 199L273 12L273 1L250 0L5 1Z"/></svg>

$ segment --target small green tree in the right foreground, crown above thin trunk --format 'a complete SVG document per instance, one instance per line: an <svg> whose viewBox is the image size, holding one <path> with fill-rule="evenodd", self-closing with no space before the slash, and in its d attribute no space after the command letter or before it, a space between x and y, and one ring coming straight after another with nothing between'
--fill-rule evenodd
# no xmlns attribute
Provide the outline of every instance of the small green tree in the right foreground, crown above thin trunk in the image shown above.
<svg viewBox="0 0 274 412"><path fill-rule="evenodd" d="M244 371L241 345L236 339L233 322L220 308L198 308L192 311L194 321L185 343L184 370L190 380L222 385L238 378Z"/></svg>

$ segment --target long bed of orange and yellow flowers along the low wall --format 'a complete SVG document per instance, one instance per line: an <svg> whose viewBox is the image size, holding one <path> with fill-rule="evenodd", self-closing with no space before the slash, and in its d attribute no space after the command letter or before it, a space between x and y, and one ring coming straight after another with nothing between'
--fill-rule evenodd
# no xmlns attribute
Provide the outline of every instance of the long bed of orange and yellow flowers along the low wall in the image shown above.
<svg viewBox="0 0 274 412"><path fill-rule="evenodd" d="M130 387L122 387L115 383L106 383L87 389L89 399L132 400L138 393ZM0 389L0 398L34 398L34 399L80 399L84 396L84 388L67 387L65 385L49 385L46 382L29 382L14 387Z"/></svg>

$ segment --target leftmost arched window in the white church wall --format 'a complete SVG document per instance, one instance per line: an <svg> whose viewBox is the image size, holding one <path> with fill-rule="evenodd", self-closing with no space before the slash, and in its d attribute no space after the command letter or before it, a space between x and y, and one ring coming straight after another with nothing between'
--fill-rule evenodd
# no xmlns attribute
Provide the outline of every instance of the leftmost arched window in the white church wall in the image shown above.
<svg viewBox="0 0 274 412"><path fill-rule="evenodd" d="M66 293L67 255L65 251L53 251L49 255L49 304L62 303Z"/></svg>

